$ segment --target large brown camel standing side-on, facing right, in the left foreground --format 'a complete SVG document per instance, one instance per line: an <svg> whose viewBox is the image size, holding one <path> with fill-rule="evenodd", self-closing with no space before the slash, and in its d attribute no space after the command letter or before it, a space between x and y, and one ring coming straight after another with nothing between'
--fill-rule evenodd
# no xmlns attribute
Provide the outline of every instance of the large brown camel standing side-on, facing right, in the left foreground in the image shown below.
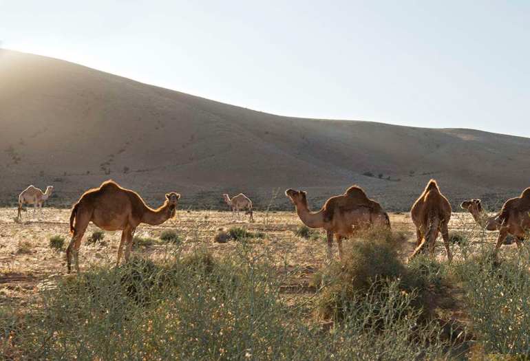
<svg viewBox="0 0 530 361"><path fill-rule="evenodd" d="M152 209L145 204L138 193L122 188L112 180L103 182L99 188L87 190L74 204L72 215L70 215L70 232L72 232L73 237L66 249L68 273L70 273L72 252L74 253L76 271L79 272L79 247L89 222L92 221L103 230L123 231L118 247L118 259L116 261L116 266L118 266L124 244L125 261L129 260L136 227L140 223L156 226L173 218L178 199L180 199L178 193L167 193L164 204L160 208Z"/></svg>

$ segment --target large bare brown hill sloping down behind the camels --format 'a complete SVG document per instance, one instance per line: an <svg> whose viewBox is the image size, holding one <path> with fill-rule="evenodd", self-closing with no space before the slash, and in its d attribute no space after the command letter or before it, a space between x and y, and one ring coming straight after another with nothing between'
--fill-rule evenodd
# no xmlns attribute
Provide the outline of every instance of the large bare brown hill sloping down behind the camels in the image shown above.
<svg viewBox="0 0 530 361"><path fill-rule="evenodd" d="M53 184L52 203L66 205L112 178L153 205L177 190L184 207L222 206L223 191L280 207L285 188L304 188L317 206L356 183L405 210L434 177L454 205L494 206L530 185L529 159L528 138L287 118L0 50L4 204L28 184Z"/></svg>

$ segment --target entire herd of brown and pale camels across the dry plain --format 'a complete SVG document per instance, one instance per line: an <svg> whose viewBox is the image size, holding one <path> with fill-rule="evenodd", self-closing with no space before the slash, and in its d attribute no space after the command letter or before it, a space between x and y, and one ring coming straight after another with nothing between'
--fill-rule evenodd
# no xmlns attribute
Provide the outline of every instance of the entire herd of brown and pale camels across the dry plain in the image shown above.
<svg viewBox="0 0 530 361"><path fill-rule="evenodd" d="M26 188L19 195L19 218L23 204L34 204L35 209L42 208L43 201L50 197L52 190L52 186L48 186L45 192L34 186ZM333 237L337 240L339 258L342 259L342 240L350 237L355 231L372 226L390 228L387 212L377 201L368 198L359 186L351 186L343 195L331 197L318 212L309 209L306 192L303 190L288 189L285 194L293 202L298 217L306 226L326 230L328 260L332 257ZM240 210L246 210L253 220L252 201L248 197L243 194L232 198L224 194L223 197L233 212L239 214ZM70 215L72 240L66 250L68 272L71 271L72 256L76 271L79 272L78 252L81 239L91 221L103 230L122 231L116 261L116 265L119 265L124 247L125 261L129 260L134 232L138 225L147 223L156 226L173 218L179 199L180 194L167 193L164 204L153 209L145 204L138 193L122 188L112 180L103 182L99 188L87 190L74 204ZM516 239L520 248L525 232L530 230L530 187L523 190L520 197L508 199L502 210L493 217L489 217L483 210L480 199L464 201L460 207L470 212L482 228L499 231L494 256L508 234ZM441 193L436 181L431 179L410 210L417 237L416 249L411 258L425 248L428 248L432 256L436 239L441 233L447 259L449 262L452 260L447 228L451 212L449 201Z"/></svg>

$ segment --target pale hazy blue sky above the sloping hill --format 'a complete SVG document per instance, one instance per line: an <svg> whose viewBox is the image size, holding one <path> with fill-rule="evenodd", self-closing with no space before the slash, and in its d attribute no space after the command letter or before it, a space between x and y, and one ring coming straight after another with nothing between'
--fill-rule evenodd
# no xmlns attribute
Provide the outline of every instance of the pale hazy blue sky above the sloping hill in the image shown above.
<svg viewBox="0 0 530 361"><path fill-rule="evenodd" d="M530 1L3 1L1 46L284 116L530 137Z"/></svg>

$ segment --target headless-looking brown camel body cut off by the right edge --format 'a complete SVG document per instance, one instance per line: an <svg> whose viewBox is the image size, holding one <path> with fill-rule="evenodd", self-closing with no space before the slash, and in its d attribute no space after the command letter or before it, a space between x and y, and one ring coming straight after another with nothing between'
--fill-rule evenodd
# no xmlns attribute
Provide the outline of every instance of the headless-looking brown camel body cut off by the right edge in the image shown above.
<svg viewBox="0 0 530 361"><path fill-rule="evenodd" d="M525 232L530 230L530 188L523 190L520 197L508 199L496 221L500 224L500 228L494 256L497 255L500 245L504 243L508 234L515 237L520 250Z"/></svg>

